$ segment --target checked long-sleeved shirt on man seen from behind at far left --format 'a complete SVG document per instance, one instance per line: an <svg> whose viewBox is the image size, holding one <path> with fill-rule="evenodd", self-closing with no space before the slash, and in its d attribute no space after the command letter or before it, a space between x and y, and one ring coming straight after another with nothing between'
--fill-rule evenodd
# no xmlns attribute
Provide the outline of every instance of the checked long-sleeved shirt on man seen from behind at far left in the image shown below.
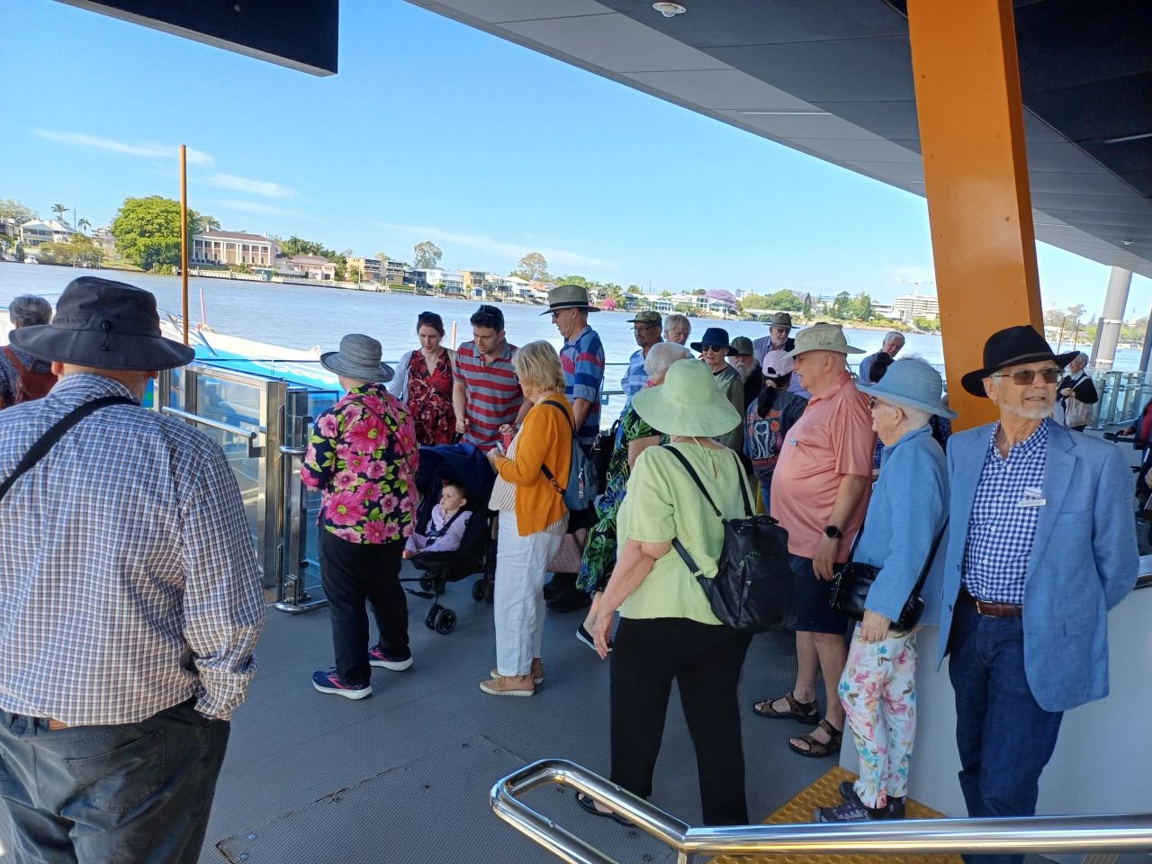
<svg viewBox="0 0 1152 864"><path fill-rule="evenodd" d="M71 374L0 411L0 477L100 396ZM70 726L139 722L190 698L227 719L256 670L264 597L223 452L137 406L85 417L0 501L0 708Z"/></svg>

